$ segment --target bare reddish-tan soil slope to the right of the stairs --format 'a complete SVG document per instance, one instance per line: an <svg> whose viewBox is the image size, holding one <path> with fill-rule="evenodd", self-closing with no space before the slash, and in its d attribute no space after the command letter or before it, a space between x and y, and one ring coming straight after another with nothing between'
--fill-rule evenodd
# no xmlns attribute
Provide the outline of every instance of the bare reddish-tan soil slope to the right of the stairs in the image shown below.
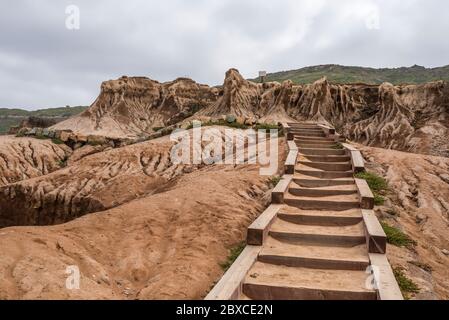
<svg viewBox="0 0 449 320"><path fill-rule="evenodd" d="M417 241L411 249L390 246L390 262L421 288L416 299L449 299L449 159L359 147L391 190L377 214Z"/></svg>

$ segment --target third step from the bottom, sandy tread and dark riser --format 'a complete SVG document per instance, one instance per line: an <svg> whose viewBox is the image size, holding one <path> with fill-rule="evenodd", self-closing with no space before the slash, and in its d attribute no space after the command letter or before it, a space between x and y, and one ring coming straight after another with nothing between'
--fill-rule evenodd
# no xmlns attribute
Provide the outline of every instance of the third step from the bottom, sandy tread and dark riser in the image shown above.
<svg viewBox="0 0 449 320"><path fill-rule="evenodd" d="M347 226L301 225L277 218L269 235L299 245L353 247L366 243L363 222Z"/></svg>

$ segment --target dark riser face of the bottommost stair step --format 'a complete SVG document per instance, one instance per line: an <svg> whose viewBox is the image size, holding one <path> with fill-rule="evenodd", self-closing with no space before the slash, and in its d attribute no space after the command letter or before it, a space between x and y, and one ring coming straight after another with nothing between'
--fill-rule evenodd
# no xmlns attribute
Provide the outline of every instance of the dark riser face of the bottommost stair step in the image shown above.
<svg viewBox="0 0 449 320"><path fill-rule="evenodd" d="M253 300L377 300L377 293L275 287L243 284L243 293Z"/></svg>

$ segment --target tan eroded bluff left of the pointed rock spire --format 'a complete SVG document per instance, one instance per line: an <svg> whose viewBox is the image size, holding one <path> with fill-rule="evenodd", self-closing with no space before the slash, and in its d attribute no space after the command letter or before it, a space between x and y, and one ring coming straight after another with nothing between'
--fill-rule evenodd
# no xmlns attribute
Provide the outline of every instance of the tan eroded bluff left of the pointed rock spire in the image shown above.
<svg viewBox="0 0 449 320"><path fill-rule="evenodd" d="M88 110L51 129L119 139L150 135L211 105L217 95L216 89L185 78L159 83L122 77L104 82Z"/></svg>

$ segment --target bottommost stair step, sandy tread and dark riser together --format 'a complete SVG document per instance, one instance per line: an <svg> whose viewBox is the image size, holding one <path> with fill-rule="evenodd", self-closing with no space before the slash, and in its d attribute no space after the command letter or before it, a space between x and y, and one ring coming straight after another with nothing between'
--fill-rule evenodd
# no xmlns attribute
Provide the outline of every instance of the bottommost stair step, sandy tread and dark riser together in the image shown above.
<svg viewBox="0 0 449 320"><path fill-rule="evenodd" d="M243 283L254 300L376 300L364 271L293 268L256 262Z"/></svg>

